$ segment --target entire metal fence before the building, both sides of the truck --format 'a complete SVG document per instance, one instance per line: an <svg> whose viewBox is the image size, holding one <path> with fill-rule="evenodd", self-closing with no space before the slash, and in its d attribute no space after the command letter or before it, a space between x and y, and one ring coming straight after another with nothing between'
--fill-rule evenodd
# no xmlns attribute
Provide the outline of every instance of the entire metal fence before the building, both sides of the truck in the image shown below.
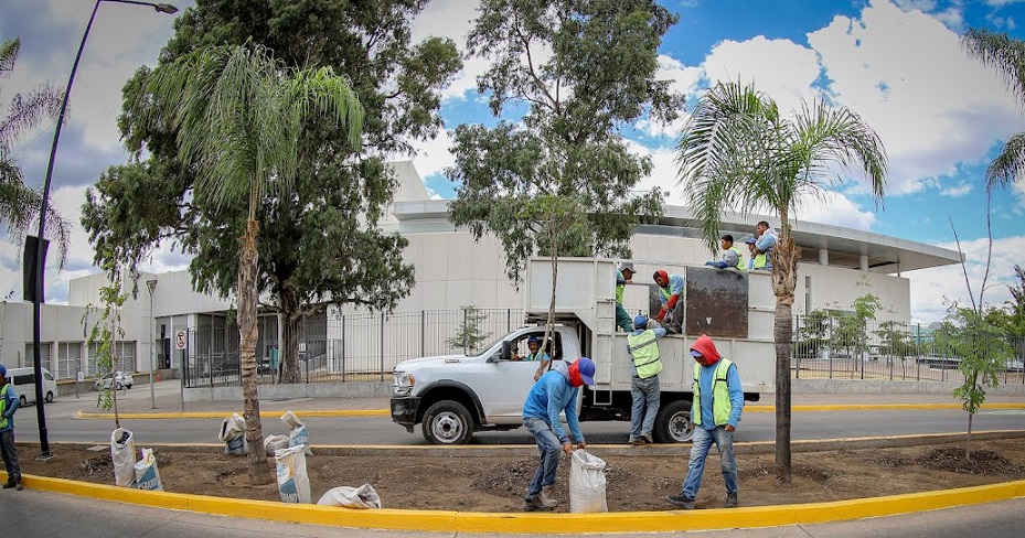
<svg viewBox="0 0 1025 538"><path fill-rule="evenodd" d="M516 309L425 310L398 314L365 313L312 318L297 329L299 370L305 383L386 380L398 363L421 356L472 354L523 324ZM856 321L856 320L855 320ZM830 379L962 381L961 359L951 353L947 330L852 318L797 316L793 376ZM260 318L257 374L276 383L271 351L281 348L277 321ZM282 340L288 341L288 327ZM460 335L472 337L463 337ZM476 342L476 346L463 346ZM1012 358L1002 384L1025 384L1025 338L1008 341ZM471 348L473 347L473 348ZM238 386L238 329L217 320L191 330L184 364L185 386ZM281 357L284 359L284 357Z"/></svg>

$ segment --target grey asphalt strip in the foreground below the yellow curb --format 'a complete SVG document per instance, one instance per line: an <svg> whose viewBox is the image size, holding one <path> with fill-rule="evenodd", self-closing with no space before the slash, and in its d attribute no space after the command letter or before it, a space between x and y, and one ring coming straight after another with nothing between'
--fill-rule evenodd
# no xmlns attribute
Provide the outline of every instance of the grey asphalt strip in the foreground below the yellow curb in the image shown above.
<svg viewBox="0 0 1025 538"><path fill-rule="evenodd" d="M465 532L413 532L321 527L228 518L191 512L106 503L85 497L24 489L0 492L3 528L13 536L50 538L439 538L494 537ZM701 538L1019 538L1025 528L1025 498L832 524L730 530L661 532ZM553 529L572 532L570 528ZM698 535L700 532L700 535ZM4 535L6 536L6 535ZM515 538L514 535L502 535ZM631 535L618 535L631 536ZM651 536L632 535L632 536ZM536 537L532 535L531 538ZM526 537L524 537L526 538Z"/></svg>

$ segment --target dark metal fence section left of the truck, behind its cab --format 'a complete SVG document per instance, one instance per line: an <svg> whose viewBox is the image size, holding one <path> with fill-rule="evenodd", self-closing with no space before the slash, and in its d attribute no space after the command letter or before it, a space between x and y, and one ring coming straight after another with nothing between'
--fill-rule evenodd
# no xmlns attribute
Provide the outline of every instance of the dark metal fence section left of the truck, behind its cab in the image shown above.
<svg viewBox="0 0 1025 538"><path fill-rule="evenodd" d="M472 354L522 324L523 311L516 309L322 315L299 325L300 377L305 383L386 380L403 361ZM257 374L260 383L276 383L281 370L280 363L275 365L271 349L277 349L284 361L277 324L261 319L260 331ZM290 337L287 331L288 327L282 327L285 342ZM468 334L470 337L459 337ZM234 345L227 342L231 338ZM183 368L186 387L242 383L236 325L194 329L190 343L193 345ZM472 343L477 345L462 345Z"/></svg>

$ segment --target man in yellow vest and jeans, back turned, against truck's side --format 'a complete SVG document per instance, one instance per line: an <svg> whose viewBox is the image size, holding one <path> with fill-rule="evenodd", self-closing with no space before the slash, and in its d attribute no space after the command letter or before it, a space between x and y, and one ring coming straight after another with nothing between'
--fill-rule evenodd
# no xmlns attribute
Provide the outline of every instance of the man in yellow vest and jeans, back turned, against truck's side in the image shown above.
<svg viewBox="0 0 1025 538"><path fill-rule="evenodd" d="M633 332L627 336L627 351L633 358L633 376L630 378L630 396L633 407L630 410L630 444L650 444L651 429L659 415L659 373L662 372L662 358L659 353L659 338L665 336L662 327L648 329L648 316L639 315L633 320Z"/></svg>

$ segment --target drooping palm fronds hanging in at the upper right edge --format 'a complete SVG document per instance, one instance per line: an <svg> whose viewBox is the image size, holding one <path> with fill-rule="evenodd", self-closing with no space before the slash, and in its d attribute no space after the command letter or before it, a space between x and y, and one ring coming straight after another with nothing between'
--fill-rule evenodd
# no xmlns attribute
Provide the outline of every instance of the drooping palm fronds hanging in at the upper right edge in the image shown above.
<svg viewBox="0 0 1025 538"><path fill-rule="evenodd" d="M969 30L961 43L969 55L994 67L1025 107L1025 41L985 30ZM986 189L1008 186L1025 176L1025 132L1013 134L986 169Z"/></svg>

